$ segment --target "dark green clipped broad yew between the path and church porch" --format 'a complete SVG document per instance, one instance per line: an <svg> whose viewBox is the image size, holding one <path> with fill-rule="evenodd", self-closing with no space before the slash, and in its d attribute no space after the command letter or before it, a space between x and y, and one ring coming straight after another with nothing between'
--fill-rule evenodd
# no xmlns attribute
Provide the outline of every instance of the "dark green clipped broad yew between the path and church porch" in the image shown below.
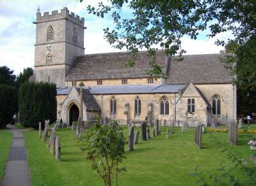
<svg viewBox="0 0 256 186"><path fill-rule="evenodd" d="M19 89L20 124L37 128L45 120L56 120L56 85L24 82Z"/></svg>

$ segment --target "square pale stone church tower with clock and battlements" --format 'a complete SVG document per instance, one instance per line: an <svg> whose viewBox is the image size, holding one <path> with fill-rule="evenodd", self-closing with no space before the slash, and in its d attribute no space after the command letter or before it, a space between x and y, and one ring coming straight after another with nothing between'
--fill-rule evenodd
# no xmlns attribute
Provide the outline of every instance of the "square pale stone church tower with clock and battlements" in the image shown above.
<svg viewBox="0 0 256 186"><path fill-rule="evenodd" d="M84 18L67 8L36 13L35 82L65 86L65 76L77 55L84 55Z"/></svg>

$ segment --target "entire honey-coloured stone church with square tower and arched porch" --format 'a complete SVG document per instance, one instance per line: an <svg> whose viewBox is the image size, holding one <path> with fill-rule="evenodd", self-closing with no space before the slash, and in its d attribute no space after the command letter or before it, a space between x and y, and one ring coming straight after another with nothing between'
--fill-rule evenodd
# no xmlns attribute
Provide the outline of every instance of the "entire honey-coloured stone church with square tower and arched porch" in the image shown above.
<svg viewBox="0 0 256 186"><path fill-rule="evenodd" d="M157 50L166 76L148 75L150 58L139 52L84 55L84 18L67 8L36 13L35 82L57 85L57 118L71 124L79 117L134 124L161 120L169 125L211 125L236 120L236 85L220 62L223 54L184 55L183 61ZM82 105L83 104L83 105Z"/></svg>

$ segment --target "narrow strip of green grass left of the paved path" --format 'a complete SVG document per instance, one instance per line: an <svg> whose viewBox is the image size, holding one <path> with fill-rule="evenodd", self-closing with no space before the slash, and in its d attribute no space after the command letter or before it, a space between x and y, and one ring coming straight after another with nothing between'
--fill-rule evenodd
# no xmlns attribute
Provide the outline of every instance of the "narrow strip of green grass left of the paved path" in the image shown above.
<svg viewBox="0 0 256 186"><path fill-rule="evenodd" d="M9 131L0 131L0 183L3 180L5 163L12 145L12 136Z"/></svg>

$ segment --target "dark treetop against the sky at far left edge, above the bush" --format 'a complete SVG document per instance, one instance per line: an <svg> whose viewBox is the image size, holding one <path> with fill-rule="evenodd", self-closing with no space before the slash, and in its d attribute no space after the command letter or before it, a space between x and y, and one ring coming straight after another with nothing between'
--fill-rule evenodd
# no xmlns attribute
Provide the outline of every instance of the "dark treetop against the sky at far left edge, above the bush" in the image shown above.
<svg viewBox="0 0 256 186"><path fill-rule="evenodd" d="M11 71L7 66L0 66L0 83L15 87L15 81L16 76L13 75L13 71Z"/></svg>

